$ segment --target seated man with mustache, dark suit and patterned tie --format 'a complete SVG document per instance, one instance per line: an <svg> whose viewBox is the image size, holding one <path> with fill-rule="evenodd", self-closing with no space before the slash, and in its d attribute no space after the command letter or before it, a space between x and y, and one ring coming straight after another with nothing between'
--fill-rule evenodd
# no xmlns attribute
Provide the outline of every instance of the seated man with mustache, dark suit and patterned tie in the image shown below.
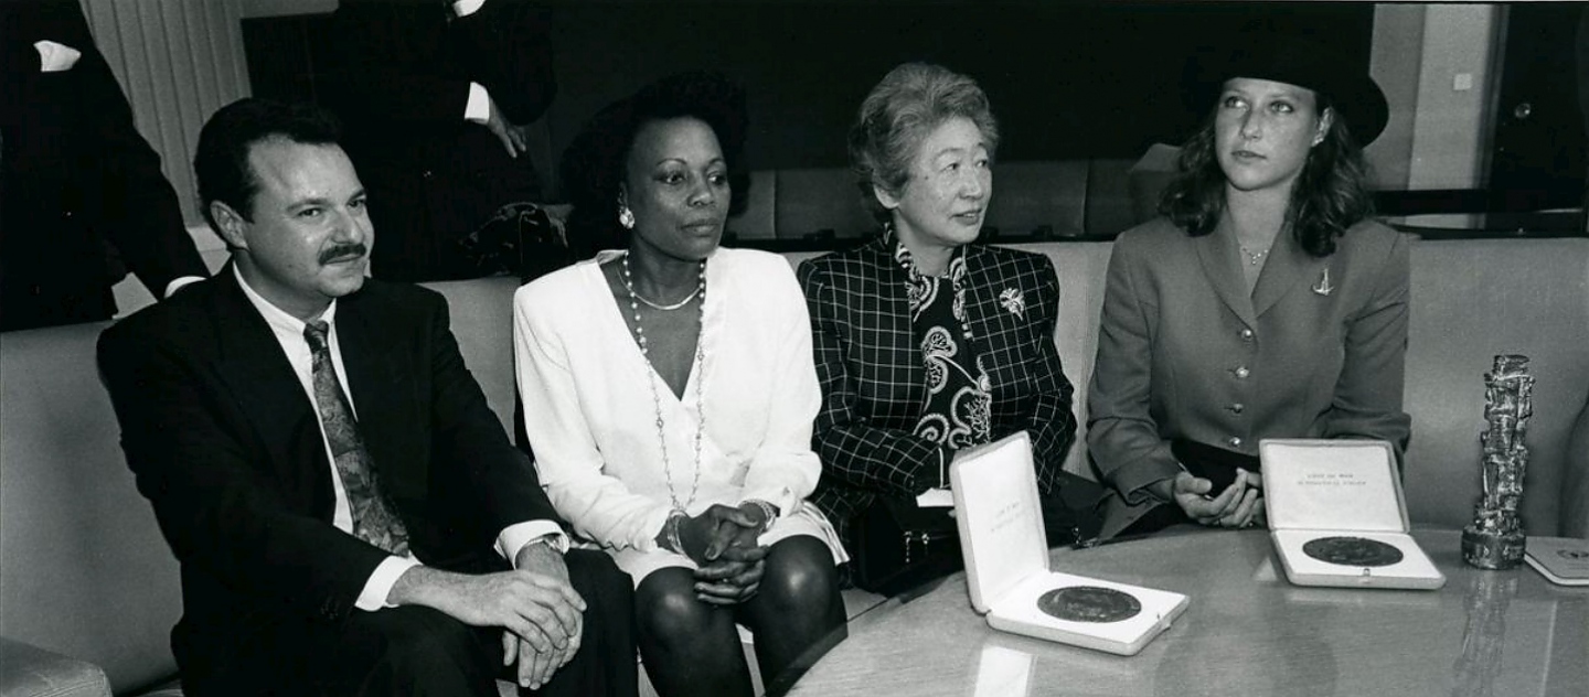
<svg viewBox="0 0 1589 697"><path fill-rule="evenodd" d="M232 262L100 340L181 562L184 689L496 695L513 662L542 694L632 695L628 576L567 551L445 300L365 279L337 137L310 106L218 111L194 168Z"/></svg>

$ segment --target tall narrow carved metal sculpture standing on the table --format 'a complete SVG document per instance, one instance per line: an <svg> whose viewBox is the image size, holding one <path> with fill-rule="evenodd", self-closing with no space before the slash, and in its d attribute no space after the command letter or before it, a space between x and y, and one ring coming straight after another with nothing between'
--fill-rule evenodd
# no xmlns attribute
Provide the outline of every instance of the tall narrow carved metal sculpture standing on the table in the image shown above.
<svg viewBox="0 0 1589 697"><path fill-rule="evenodd" d="M1479 435L1484 449L1484 494L1473 511L1473 522L1462 530L1462 559L1478 568L1513 568L1522 562L1527 540L1517 508L1522 478L1529 468L1529 446L1522 443L1533 416L1533 378L1527 356L1495 356L1495 367L1484 375L1484 421Z"/></svg>

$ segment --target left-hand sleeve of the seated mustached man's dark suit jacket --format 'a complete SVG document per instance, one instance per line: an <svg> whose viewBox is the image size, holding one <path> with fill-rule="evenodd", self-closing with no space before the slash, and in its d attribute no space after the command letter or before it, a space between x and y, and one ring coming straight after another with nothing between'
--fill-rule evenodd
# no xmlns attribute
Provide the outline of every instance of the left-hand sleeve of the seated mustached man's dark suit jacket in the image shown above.
<svg viewBox="0 0 1589 697"><path fill-rule="evenodd" d="M351 611L386 553L289 505L254 462L265 445L226 403L238 397L221 370L172 338L176 322L138 319L105 330L99 364L127 464L178 560L305 616ZM297 383L288 387L302 394ZM324 448L319 438L302 440Z"/></svg>

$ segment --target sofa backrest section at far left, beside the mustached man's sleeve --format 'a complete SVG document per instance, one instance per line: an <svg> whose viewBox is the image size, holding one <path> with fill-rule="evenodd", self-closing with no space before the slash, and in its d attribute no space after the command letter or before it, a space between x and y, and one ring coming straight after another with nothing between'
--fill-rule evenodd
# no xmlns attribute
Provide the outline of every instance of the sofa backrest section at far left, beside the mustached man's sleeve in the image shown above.
<svg viewBox="0 0 1589 697"><path fill-rule="evenodd" d="M121 454L105 324L0 333L0 637L89 660L121 692L176 672L176 559Z"/></svg>

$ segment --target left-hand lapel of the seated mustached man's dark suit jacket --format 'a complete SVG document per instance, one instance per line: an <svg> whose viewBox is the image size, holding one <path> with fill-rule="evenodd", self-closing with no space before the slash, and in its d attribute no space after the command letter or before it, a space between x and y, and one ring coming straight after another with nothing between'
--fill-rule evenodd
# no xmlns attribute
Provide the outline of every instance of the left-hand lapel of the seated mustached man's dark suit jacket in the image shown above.
<svg viewBox="0 0 1589 697"><path fill-rule="evenodd" d="M331 460L308 394L265 318L243 295L230 265L213 283L221 284L215 308L221 343L216 370L270 454L281 491L308 497L313 513L331 521L335 505Z"/></svg>

